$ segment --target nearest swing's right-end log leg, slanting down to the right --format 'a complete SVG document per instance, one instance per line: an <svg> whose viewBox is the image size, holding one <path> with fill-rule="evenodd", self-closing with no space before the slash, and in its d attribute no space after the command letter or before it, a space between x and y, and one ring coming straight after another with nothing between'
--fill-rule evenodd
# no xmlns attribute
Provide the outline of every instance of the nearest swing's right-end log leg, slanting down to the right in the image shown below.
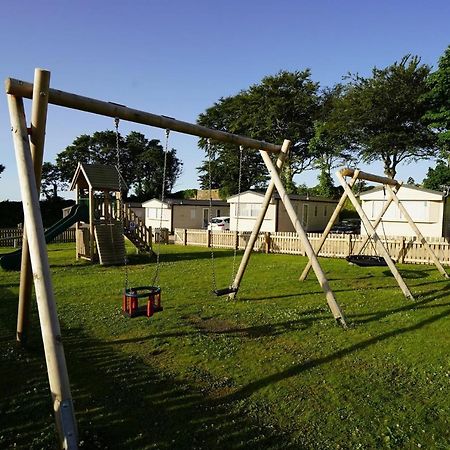
<svg viewBox="0 0 450 450"><path fill-rule="evenodd" d="M308 240L308 236L305 233L305 230L303 229L300 220L297 217L297 214L295 212L294 207L292 206L291 200L289 198L289 195L286 192L286 189L283 186L283 183L280 179L280 176L278 175L278 171L276 170L272 160L270 159L270 156L264 152L260 151L264 163L266 164L266 167L269 170L269 173L272 177L272 180L275 183L275 186L277 188L278 194L281 197L281 201L284 204L284 207L286 208L286 211L288 213L289 218L291 219L292 224L294 225L295 231L300 236L300 239L302 240L302 243L305 247L306 254L311 261L312 268L314 270L314 273L317 276L317 280L319 281L320 286L322 287L328 306L333 313L334 318L344 327L346 327L344 314L341 311L340 306L338 305L333 291L330 288L330 285L328 284L328 280L325 277L325 274L322 270L322 267L320 266L319 260L317 259L316 254L314 253L314 249L311 246L311 243Z"/></svg>

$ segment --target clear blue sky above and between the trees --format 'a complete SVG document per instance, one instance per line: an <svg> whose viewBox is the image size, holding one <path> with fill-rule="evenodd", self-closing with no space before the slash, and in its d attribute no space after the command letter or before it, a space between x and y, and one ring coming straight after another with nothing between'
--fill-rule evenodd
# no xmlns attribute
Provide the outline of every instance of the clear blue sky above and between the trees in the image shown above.
<svg viewBox="0 0 450 450"><path fill-rule="evenodd" d="M280 70L310 68L321 86L350 72L370 74L407 53L436 67L450 44L448 0L41 0L9 2L0 26L0 75L32 81L195 122L220 97ZM30 102L26 101L29 117ZM80 134L112 129L112 119L49 107L45 161ZM121 123L148 138L164 130ZM184 163L175 190L198 187L203 153L173 133ZM0 97L0 200L20 198L6 96ZM401 166L398 179L421 181L433 162ZM382 172L381 165L365 167ZM312 172L298 183L316 184ZM66 195L69 196L69 195Z"/></svg>

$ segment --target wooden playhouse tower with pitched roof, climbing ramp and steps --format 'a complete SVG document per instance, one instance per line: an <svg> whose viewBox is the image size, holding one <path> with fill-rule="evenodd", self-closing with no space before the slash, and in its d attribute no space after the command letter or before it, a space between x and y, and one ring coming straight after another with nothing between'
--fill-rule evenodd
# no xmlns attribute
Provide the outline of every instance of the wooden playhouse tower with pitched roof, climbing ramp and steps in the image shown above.
<svg viewBox="0 0 450 450"><path fill-rule="evenodd" d="M119 265L127 237L141 252L151 252L151 229L122 203L126 186L115 166L78 163L70 186L76 202L89 208L89 223L76 224L77 258Z"/></svg>

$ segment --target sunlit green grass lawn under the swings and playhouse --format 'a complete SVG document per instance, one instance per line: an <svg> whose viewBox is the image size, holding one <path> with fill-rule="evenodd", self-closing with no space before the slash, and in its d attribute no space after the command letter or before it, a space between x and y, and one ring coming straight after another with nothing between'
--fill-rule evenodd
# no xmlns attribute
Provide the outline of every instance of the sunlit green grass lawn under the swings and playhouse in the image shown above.
<svg viewBox="0 0 450 450"><path fill-rule="evenodd" d="M399 266L411 302L387 268L321 259L343 330L298 281L304 257L254 254L229 301L209 249L163 246L164 311L129 319L124 267L49 250L82 448L450 448L450 284L432 266ZM130 259L130 285L150 284L154 262ZM218 287L232 259L215 252ZM0 285L0 448L55 448L36 307L21 350L19 274Z"/></svg>

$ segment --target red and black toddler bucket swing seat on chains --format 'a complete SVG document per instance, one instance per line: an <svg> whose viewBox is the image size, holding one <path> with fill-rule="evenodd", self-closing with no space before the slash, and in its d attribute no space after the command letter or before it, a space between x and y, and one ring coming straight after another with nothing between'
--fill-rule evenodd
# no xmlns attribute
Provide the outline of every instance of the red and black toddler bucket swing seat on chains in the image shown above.
<svg viewBox="0 0 450 450"><path fill-rule="evenodd" d="M147 302L139 306L141 298L145 298ZM122 313L127 317L152 317L154 313L162 310L160 287L139 286L127 288L123 292Z"/></svg>

